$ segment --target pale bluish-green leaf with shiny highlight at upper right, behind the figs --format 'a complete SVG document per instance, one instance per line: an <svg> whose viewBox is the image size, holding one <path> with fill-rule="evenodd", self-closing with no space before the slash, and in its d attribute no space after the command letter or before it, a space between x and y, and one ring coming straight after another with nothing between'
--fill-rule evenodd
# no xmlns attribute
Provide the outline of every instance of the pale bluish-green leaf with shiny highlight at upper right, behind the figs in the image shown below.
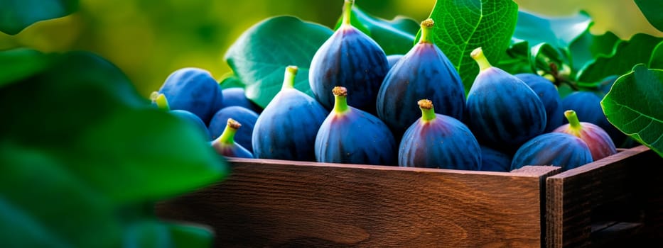
<svg viewBox="0 0 663 248"><path fill-rule="evenodd" d="M544 18L526 11L518 11L518 22L513 37L527 40L531 45L547 43L564 49L588 30L590 23L591 18L584 12L575 16Z"/></svg>

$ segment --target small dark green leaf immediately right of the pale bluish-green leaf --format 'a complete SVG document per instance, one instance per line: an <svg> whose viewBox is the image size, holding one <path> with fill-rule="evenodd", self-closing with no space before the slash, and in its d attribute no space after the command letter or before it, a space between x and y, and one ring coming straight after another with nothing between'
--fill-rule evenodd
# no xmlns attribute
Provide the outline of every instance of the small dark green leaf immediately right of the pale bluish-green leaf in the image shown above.
<svg viewBox="0 0 663 248"><path fill-rule="evenodd" d="M589 29L585 30L576 40L573 40L568 49L571 52L573 71L577 72L595 57L607 56L613 53L615 44L620 38L610 31L602 35L593 35Z"/></svg>

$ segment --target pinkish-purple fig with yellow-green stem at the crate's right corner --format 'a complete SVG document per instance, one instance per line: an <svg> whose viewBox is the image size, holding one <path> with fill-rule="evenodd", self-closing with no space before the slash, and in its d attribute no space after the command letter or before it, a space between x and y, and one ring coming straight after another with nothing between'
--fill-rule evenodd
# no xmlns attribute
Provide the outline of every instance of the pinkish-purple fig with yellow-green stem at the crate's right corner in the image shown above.
<svg viewBox="0 0 663 248"><path fill-rule="evenodd" d="M566 116L568 123L559 126L553 132L568 133L569 135L579 137L589 147L594 161L617 153L615 143L613 143L610 135L605 133L603 128L600 128L594 123L581 122L578 120L576 111L573 110L564 111L564 116Z"/></svg>

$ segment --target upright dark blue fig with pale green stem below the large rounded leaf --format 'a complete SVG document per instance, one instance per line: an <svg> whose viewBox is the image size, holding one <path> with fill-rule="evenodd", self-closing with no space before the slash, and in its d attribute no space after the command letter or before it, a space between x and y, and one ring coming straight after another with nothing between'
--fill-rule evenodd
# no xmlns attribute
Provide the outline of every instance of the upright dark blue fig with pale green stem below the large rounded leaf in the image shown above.
<svg viewBox="0 0 663 248"><path fill-rule="evenodd" d="M329 111L294 87L297 71L294 65L286 67L281 91L258 116L252 135L254 157L316 160L316 134Z"/></svg>

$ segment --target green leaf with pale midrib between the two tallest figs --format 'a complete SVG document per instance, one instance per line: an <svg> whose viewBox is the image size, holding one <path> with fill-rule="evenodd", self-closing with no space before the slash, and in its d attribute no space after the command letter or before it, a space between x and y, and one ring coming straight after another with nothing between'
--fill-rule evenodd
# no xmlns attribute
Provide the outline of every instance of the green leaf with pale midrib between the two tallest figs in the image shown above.
<svg viewBox="0 0 663 248"><path fill-rule="evenodd" d="M343 16L336 22L334 30L340 27L342 21ZM352 6L350 23L375 40L387 55L406 54L414 45L414 35L419 31L419 23L411 18L396 16L388 21L365 13L356 4Z"/></svg>

